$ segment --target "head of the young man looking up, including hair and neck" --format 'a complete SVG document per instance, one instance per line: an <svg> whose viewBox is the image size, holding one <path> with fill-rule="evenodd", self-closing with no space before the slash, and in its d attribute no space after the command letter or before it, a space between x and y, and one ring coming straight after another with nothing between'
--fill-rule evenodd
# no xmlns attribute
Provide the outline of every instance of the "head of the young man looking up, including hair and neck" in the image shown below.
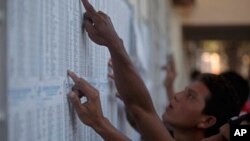
<svg viewBox="0 0 250 141"><path fill-rule="evenodd" d="M201 74L186 90L174 95L163 120L173 127L175 138L186 135L186 139L195 136L202 139L218 133L220 126L237 115L238 103L233 102L237 98L221 76Z"/></svg>

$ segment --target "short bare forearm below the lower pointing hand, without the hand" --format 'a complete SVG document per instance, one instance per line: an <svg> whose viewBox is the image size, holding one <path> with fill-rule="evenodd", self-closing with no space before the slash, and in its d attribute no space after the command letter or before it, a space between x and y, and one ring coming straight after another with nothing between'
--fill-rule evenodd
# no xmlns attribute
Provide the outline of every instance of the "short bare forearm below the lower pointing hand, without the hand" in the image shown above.
<svg viewBox="0 0 250 141"><path fill-rule="evenodd" d="M105 141L131 141L120 131L118 131L107 119L103 119L93 129L105 140Z"/></svg>

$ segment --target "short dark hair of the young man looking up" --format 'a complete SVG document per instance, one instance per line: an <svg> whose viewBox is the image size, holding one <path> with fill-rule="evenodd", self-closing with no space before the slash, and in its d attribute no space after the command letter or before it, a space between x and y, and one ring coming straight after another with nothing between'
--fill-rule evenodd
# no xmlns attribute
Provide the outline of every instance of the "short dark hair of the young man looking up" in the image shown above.
<svg viewBox="0 0 250 141"><path fill-rule="evenodd" d="M239 98L236 90L222 76L204 73L198 80L204 83L210 92L203 113L216 117L216 123L205 132L206 136L211 136L217 134L219 128L231 117L238 115Z"/></svg>

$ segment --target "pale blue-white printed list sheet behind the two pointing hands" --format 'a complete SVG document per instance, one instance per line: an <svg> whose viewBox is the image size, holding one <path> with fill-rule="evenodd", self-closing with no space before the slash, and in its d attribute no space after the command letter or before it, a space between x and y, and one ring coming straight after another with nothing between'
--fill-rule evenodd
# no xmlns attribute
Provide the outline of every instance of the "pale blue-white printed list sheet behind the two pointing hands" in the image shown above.
<svg viewBox="0 0 250 141"><path fill-rule="evenodd" d="M90 2L108 13L128 47L129 6L123 0ZM81 1L8 0L7 5L9 141L101 140L67 99L73 85L67 70L72 70L99 90L105 116L114 124L118 120L107 77L110 55L84 32Z"/></svg>

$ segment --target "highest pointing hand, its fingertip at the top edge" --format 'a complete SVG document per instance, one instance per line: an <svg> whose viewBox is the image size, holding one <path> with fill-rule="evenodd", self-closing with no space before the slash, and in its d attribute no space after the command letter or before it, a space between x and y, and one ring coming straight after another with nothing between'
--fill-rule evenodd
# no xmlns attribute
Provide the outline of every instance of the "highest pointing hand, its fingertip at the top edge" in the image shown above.
<svg viewBox="0 0 250 141"><path fill-rule="evenodd" d="M99 45L112 47L121 41L117 35L109 16L102 11L96 12L88 0L82 0L86 9L83 27L92 41Z"/></svg>

